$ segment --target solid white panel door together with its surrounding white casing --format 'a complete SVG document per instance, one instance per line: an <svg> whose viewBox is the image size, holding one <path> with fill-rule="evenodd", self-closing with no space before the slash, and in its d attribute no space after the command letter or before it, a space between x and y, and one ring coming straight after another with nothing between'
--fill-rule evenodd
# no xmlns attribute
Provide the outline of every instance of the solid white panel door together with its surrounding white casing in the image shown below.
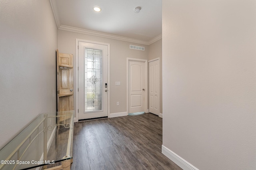
<svg viewBox="0 0 256 170"><path fill-rule="evenodd" d="M147 112L147 60L127 59L127 113Z"/></svg>

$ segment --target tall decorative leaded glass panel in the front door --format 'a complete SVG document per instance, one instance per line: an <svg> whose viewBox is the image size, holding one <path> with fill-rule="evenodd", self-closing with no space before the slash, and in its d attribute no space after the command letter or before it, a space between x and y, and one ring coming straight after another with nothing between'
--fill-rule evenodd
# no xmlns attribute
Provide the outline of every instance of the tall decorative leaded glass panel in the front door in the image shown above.
<svg viewBox="0 0 256 170"><path fill-rule="evenodd" d="M85 48L85 112L102 110L102 50Z"/></svg>

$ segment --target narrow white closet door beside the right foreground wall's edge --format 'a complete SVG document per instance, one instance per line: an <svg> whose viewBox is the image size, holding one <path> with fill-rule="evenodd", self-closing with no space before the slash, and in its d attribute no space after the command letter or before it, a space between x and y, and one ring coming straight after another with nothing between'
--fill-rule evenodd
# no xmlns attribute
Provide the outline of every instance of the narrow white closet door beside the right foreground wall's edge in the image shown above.
<svg viewBox="0 0 256 170"><path fill-rule="evenodd" d="M160 65L159 59L148 63L149 70L149 112L159 115Z"/></svg>

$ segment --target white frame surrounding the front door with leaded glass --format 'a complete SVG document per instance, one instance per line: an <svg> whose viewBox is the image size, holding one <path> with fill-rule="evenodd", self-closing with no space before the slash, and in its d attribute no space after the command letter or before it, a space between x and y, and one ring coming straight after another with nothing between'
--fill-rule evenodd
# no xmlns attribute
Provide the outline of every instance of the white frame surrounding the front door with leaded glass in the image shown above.
<svg viewBox="0 0 256 170"><path fill-rule="evenodd" d="M110 82L110 44L109 43L102 43L102 42L94 42L90 40L83 40L83 39L78 39L76 38L76 85L74 85L76 89L76 119L74 119L74 122L78 122L78 42L86 42L86 43L95 43L99 45L107 45L108 46L108 117L110 117L110 88L109 88L109 82Z"/></svg>

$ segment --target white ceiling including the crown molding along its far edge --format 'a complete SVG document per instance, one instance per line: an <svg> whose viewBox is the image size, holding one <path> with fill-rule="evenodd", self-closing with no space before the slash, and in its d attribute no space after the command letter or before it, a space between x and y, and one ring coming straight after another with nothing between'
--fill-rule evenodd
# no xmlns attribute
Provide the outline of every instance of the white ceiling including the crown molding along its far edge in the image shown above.
<svg viewBox="0 0 256 170"><path fill-rule="evenodd" d="M59 29L150 44L162 37L162 0L50 0ZM101 12L94 12L100 6ZM139 13L134 8L141 7ZM139 41L136 41L139 40Z"/></svg>

